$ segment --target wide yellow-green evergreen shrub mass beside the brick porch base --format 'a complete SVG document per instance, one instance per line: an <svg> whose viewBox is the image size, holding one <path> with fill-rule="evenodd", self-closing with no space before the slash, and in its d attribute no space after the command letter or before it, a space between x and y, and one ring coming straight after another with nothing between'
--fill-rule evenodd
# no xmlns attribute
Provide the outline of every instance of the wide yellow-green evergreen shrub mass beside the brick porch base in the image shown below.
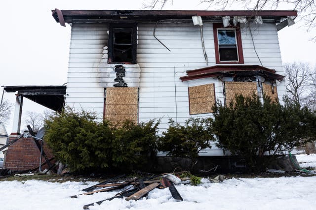
<svg viewBox="0 0 316 210"><path fill-rule="evenodd" d="M130 169L156 154L159 122L135 125L125 121L114 126L107 120L95 120L93 113L73 110L45 120L45 142L73 171L126 165Z"/></svg>

